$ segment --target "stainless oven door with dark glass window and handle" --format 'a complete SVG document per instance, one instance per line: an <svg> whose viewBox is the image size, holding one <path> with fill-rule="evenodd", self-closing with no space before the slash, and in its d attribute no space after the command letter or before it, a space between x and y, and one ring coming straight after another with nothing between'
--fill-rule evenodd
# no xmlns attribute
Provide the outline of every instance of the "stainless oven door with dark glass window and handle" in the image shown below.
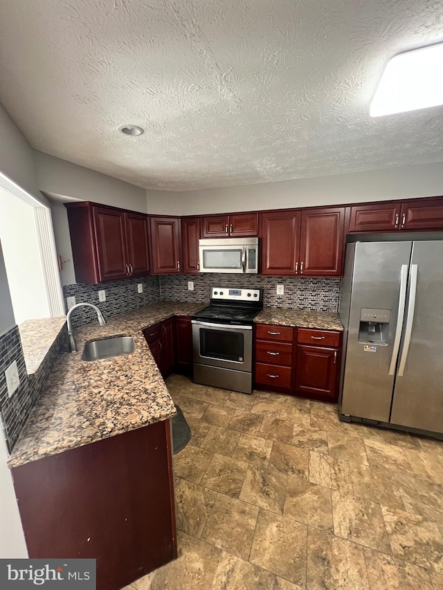
<svg viewBox="0 0 443 590"><path fill-rule="evenodd" d="M252 371L252 326L192 320L194 362L236 371Z"/></svg>

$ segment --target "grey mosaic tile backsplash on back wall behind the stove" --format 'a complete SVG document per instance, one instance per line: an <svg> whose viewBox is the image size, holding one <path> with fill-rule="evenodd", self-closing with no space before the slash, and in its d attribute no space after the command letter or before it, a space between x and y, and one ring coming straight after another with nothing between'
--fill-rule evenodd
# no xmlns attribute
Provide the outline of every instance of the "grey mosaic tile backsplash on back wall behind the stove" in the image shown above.
<svg viewBox="0 0 443 590"><path fill-rule="evenodd" d="M188 291L188 281L194 291ZM277 295L277 284L284 285L284 295ZM162 301L205 302L210 287L239 287L264 289L264 306L338 311L340 279L318 277L264 277L260 275L163 275L160 278Z"/></svg>

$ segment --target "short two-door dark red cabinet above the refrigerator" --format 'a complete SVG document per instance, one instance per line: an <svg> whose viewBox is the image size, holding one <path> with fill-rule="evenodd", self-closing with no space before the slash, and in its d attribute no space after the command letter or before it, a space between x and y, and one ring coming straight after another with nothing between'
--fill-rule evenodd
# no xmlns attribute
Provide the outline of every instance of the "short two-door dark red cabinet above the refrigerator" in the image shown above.
<svg viewBox="0 0 443 590"><path fill-rule="evenodd" d="M350 207L350 233L442 229L443 197Z"/></svg>

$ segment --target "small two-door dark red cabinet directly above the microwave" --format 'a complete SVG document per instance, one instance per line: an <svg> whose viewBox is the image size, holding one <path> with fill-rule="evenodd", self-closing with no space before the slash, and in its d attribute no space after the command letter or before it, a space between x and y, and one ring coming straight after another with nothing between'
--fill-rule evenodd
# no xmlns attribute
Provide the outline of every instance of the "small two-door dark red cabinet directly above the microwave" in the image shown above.
<svg viewBox="0 0 443 590"><path fill-rule="evenodd" d="M202 238L254 237L258 235L258 213L205 215L201 217Z"/></svg>

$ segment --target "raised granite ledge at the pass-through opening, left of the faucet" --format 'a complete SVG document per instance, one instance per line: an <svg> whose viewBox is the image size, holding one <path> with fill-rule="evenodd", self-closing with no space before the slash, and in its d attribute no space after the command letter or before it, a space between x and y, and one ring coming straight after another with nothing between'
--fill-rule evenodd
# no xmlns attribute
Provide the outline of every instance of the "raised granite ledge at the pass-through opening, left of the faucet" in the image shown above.
<svg viewBox="0 0 443 590"><path fill-rule="evenodd" d="M64 324L66 324L66 315L26 320L19 325L21 347L28 376L35 374L42 365L54 340L64 328Z"/></svg>

